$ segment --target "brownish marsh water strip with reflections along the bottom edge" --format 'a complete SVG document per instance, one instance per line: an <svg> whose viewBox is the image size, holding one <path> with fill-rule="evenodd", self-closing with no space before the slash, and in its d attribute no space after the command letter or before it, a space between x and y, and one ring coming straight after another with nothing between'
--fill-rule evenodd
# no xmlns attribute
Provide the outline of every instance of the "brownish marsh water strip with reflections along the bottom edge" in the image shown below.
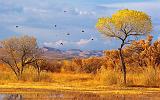
<svg viewBox="0 0 160 100"><path fill-rule="evenodd" d="M160 100L160 93L141 95L98 95L78 92L0 94L0 100Z"/></svg>

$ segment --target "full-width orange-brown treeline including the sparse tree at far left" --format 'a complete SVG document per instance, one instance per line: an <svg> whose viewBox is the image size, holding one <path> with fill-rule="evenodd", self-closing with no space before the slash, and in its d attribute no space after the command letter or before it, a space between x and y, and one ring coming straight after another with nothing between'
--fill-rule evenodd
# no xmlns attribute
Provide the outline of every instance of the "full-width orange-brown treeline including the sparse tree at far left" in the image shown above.
<svg viewBox="0 0 160 100"><path fill-rule="evenodd" d="M22 79L23 72L29 67L36 69L38 78L43 71L95 75L99 74L102 68L114 73L122 71L119 50L105 50L102 57L52 61L43 56L44 51L38 47L33 37L14 37L2 41L1 44L1 61L14 72L18 80ZM128 73L142 73L148 68L154 69L156 73L160 68L160 41L153 42L153 36L133 41L122 52Z"/></svg>

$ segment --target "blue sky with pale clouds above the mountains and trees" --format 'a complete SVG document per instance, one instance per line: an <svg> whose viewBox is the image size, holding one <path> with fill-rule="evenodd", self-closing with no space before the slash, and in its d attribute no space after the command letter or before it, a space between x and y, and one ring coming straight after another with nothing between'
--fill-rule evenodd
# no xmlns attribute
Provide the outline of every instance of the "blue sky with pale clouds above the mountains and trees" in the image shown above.
<svg viewBox="0 0 160 100"><path fill-rule="evenodd" d="M0 0L0 40L29 35L40 46L58 49L116 49L119 41L103 37L95 24L126 8L150 15L159 38L160 0Z"/></svg>

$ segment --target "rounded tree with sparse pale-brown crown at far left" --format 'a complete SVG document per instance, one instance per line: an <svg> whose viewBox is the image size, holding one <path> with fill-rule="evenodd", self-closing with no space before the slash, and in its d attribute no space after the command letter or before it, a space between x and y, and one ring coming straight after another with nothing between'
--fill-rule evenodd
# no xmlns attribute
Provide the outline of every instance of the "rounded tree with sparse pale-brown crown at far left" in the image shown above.
<svg viewBox="0 0 160 100"><path fill-rule="evenodd" d="M1 42L4 56L1 60L15 73L18 80L27 65L34 62L39 48L34 37L12 37Z"/></svg>

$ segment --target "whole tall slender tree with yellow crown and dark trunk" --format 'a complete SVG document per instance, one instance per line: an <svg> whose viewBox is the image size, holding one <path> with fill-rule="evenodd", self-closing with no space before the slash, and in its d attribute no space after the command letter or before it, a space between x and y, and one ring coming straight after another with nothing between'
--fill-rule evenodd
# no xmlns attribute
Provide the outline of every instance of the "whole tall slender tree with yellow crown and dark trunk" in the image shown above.
<svg viewBox="0 0 160 100"><path fill-rule="evenodd" d="M118 50L124 84L126 84L126 66L122 48L134 40L135 37L147 35L151 32L152 22L150 17L144 12L124 9L117 11L111 17L99 18L96 27L104 36L121 41Z"/></svg>

